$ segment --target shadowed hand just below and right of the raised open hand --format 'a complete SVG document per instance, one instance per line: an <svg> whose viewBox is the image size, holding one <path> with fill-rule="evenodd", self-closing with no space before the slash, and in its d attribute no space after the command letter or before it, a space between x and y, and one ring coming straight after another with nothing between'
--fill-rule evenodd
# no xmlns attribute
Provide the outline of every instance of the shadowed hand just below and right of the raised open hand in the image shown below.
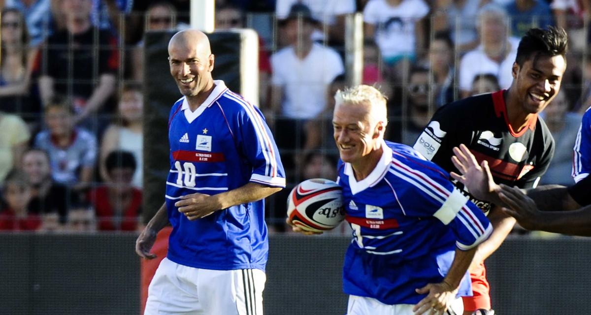
<svg viewBox="0 0 591 315"><path fill-rule="evenodd" d="M502 207L503 212L514 217L524 229L536 230L538 218L543 213L538 210L533 199L517 187L501 184L499 198L508 206Z"/></svg>

